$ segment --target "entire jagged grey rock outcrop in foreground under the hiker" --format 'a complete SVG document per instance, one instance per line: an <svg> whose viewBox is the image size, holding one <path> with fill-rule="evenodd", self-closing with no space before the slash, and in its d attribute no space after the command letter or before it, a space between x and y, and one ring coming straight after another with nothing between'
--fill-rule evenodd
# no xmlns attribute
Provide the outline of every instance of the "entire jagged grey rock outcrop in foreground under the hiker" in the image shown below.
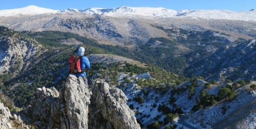
<svg viewBox="0 0 256 129"><path fill-rule="evenodd" d="M127 97L105 82L90 91L83 79L69 75L65 88L38 88L27 114L40 129L140 129Z"/></svg>

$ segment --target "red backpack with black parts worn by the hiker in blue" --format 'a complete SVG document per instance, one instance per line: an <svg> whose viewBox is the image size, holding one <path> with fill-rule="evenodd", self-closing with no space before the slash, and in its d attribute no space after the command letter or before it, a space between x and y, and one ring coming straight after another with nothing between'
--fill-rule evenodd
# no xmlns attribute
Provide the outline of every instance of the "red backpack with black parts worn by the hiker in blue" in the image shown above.
<svg viewBox="0 0 256 129"><path fill-rule="evenodd" d="M68 59L70 63L69 71L74 74L81 73L81 57L80 55L71 55Z"/></svg>

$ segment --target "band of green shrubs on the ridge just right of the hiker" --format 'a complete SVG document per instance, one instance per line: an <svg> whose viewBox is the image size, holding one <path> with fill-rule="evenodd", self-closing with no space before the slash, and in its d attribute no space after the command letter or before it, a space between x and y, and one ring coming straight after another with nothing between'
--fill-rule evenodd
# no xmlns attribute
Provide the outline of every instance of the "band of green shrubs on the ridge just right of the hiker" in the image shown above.
<svg viewBox="0 0 256 129"><path fill-rule="evenodd" d="M107 67L96 63L88 70L88 77L91 77L94 74L99 74L98 77L101 79L109 78L106 81L112 85L116 85L118 73L143 74L146 72L149 72L150 76L154 79L138 79L137 84L141 87L155 87L162 91L166 91L171 87L170 84L179 84L188 80L183 76L177 76L169 71L163 70L162 68L152 66L141 68L129 63L111 63Z"/></svg>

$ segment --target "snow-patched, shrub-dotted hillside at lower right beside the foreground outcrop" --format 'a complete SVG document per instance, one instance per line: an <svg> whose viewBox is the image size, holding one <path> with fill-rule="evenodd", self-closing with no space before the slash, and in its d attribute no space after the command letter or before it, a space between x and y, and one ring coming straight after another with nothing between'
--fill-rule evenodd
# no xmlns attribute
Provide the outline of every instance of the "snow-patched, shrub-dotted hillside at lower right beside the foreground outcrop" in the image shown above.
<svg viewBox="0 0 256 129"><path fill-rule="evenodd" d="M98 63L104 62L102 64L104 65L115 60L117 59L113 59L113 57L102 58ZM115 68L118 68L118 65ZM111 73L102 75L104 73L108 72L104 70L97 73L92 79L113 81ZM233 128L242 124L246 124L248 128L256 126L253 123L256 118L254 108L256 96L255 91L249 89L251 84L236 89L235 83L233 83L234 85L230 83L232 89L236 90L237 96L232 100L222 100L219 98L218 92L226 85L210 85L207 87L206 81L191 79L178 86L175 83L171 83L169 86L168 84L161 86L155 83L155 81L160 80L154 72L145 71L142 74L132 75L126 72L118 72L117 74L116 84L127 95L128 105L135 112L142 129L163 128L165 126L181 128L183 126L183 128L192 127L195 129L218 129L222 126ZM158 76L161 75L158 74ZM202 94L203 90L205 95ZM226 110L223 107L226 107ZM178 117L178 114L188 115L184 115L174 122L173 119ZM170 118L170 116L172 117ZM238 117L239 120L236 121Z"/></svg>

